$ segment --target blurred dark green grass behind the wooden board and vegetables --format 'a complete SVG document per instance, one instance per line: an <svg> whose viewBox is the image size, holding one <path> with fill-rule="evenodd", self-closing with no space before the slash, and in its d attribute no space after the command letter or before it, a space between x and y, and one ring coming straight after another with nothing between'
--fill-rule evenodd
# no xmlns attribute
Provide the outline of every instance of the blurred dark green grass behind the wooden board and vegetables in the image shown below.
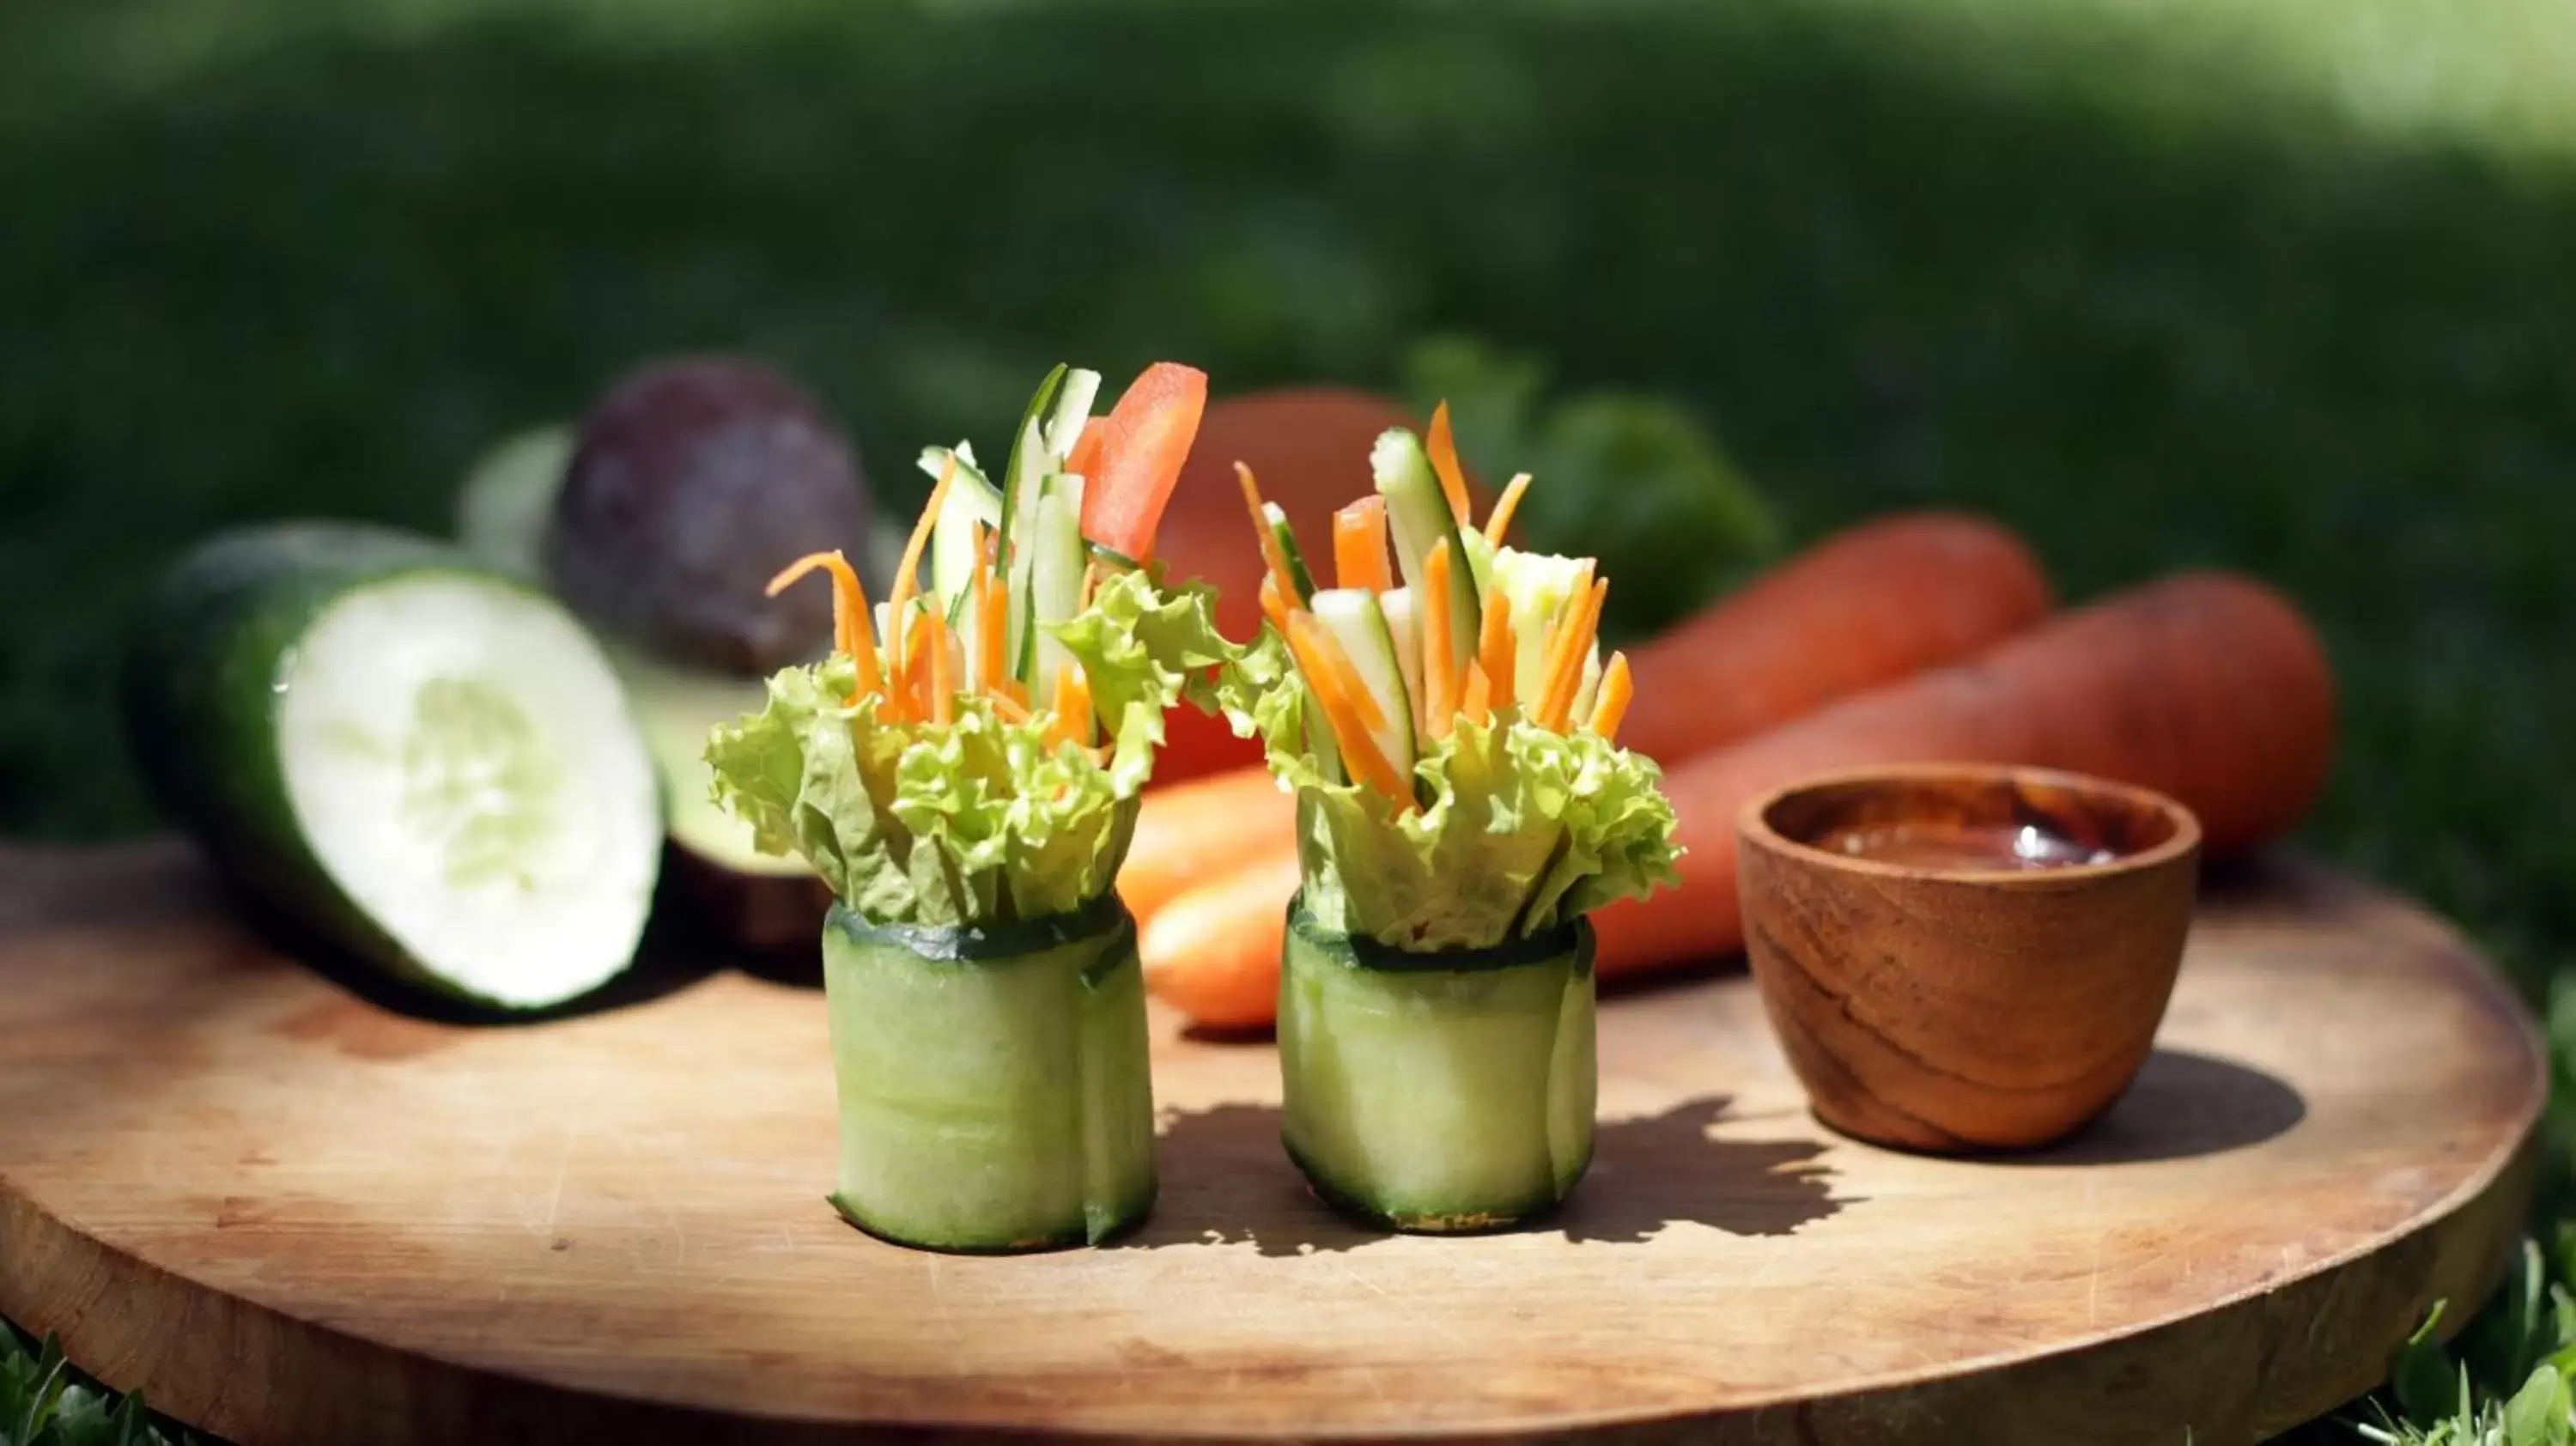
<svg viewBox="0 0 2576 1446"><path fill-rule="evenodd" d="M144 825L116 629L209 526L446 526L742 348L873 474L1043 363L1394 381L1466 330L1713 423L1793 536L2228 564L2344 686L2306 843L2576 961L2558 0L0 10L0 833Z"/></svg>

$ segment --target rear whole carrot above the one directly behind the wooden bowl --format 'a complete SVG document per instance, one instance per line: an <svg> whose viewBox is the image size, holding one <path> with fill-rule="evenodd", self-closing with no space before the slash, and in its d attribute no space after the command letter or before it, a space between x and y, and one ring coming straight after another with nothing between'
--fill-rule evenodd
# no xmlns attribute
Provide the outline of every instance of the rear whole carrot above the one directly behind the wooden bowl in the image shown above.
<svg viewBox="0 0 2576 1446"><path fill-rule="evenodd" d="M1667 766L1965 657L2048 613L2017 536L1958 513L1834 534L1636 647L1620 742Z"/></svg>

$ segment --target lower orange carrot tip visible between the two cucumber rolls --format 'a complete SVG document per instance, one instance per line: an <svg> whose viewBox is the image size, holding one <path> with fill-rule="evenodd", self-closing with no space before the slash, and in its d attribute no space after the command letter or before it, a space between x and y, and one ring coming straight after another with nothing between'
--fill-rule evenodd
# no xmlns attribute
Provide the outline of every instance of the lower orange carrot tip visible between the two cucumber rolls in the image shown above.
<svg viewBox="0 0 2576 1446"><path fill-rule="evenodd" d="M1296 853L1273 853L1170 900L1136 933L1144 987L1198 1023L1270 1023L1296 889Z"/></svg>

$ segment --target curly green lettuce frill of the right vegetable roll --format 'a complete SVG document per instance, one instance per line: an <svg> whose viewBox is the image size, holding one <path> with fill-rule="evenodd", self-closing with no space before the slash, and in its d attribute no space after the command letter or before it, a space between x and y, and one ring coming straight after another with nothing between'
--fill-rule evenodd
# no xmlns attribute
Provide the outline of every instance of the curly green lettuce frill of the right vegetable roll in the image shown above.
<svg viewBox="0 0 2576 1446"><path fill-rule="evenodd" d="M1306 907L1391 949L1492 949L1677 882L1662 771L1592 732L1458 719L1414 766L1422 807L1334 784L1306 742L1309 693L1275 634L1224 670L1236 735L1298 796Z"/></svg>

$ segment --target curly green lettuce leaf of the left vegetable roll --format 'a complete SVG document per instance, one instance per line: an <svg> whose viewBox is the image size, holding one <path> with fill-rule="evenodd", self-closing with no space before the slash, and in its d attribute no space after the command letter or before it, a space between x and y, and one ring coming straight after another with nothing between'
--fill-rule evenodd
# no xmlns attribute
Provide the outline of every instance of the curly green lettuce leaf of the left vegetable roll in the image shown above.
<svg viewBox="0 0 2576 1446"><path fill-rule="evenodd" d="M886 722L848 704L853 662L786 668L768 704L708 735L714 796L765 853L799 853L871 923L1043 918L1105 894L1136 833L1136 794L1182 696L1216 704L1208 668L1239 655L1206 588L1108 577L1056 637L1082 660L1110 758L1048 742L1054 714L1005 722L984 699L956 719Z"/></svg>

